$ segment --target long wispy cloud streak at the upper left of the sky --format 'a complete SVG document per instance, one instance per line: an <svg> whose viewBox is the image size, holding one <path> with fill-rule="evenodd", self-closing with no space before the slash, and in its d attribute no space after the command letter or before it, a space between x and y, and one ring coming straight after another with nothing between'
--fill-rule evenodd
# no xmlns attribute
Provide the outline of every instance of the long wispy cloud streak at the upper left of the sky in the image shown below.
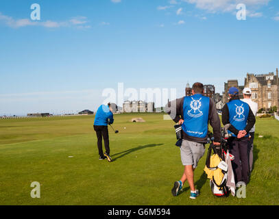
<svg viewBox="0 0 279 219"><path fill-rule="evenodd" d="M28 26L40 26L47 28L58 28L58 27L90 27L89 25L84 26L88 23L85 16L77 16L71 18L69 21L31 21L27 18L15 19L11 16L1 14L0 12L0 23L12 28L28 27Z"/></svg>

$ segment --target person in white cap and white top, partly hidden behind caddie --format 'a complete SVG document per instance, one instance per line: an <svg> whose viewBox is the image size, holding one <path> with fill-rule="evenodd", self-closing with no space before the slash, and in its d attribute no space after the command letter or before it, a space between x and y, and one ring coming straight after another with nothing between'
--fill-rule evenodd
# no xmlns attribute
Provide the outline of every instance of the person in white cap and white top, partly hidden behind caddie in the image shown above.
<svg viewBox="0 0 279 219"><path fill-rule="evenodd" d="M258 103L255 103L251 100L252 96L252 90L250 88L244 88L243 90L243 97L244 99L241 99L241 101L248 103L250 106L250 109L252 110L254 116L256 116L256 113L258 112ZM249 163L249 170L250 173L252 172L252 166L253 166L253 148L254 148L254 136L255 136L255 125L252 127L252 129L249 132L250 139L248 141L248 163Z"/></svg>

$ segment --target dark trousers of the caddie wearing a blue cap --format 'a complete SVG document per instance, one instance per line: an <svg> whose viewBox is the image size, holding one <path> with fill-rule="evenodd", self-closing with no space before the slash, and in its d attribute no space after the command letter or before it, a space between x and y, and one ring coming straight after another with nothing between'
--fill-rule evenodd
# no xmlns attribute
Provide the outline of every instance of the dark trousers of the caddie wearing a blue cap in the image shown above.
<svg viewBox="0 0 279 219"><path fill-rule="evenodd" d="M243 181L249 182L249 162L248 162L248 138L232 138L228 141L230 153L234 155L232 169L236 183Z"/></svg>

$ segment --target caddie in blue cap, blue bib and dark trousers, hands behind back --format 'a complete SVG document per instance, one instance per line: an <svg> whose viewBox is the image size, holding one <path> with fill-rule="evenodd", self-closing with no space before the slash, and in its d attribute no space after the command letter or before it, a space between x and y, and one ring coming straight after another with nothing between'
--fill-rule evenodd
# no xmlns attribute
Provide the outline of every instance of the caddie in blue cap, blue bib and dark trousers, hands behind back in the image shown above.
<svg viewBox="0 0 279 219"><path fill-rule="evenodd" d="M232 169L236 183L249 182L248 164L248 138L249 131L254 126L256 119L250 106L239 99L239 90L230 88L228 91L229 103L223 106L222 122L223 125L230 124L228 130L232 133L232 138L228 140L230 153L234 155Z"/></svg>

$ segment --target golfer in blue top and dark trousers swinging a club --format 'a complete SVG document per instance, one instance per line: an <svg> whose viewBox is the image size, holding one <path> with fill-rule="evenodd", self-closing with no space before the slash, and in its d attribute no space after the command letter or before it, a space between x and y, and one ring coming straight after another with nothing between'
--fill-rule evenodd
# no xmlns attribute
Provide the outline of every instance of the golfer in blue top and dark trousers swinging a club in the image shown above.
<svg viewBox="0 0 279 219"><path fill-rule="evenodd" d="M94 120L94 130L97 135L99 159L108 159L108 162L112 162L110 157L110 142L108 139L108 125L112 124L114 121L112 112L110 103L108 103L108 105L100 105ZM103 153L102 137L104 138L106 153Z"/></svg>

